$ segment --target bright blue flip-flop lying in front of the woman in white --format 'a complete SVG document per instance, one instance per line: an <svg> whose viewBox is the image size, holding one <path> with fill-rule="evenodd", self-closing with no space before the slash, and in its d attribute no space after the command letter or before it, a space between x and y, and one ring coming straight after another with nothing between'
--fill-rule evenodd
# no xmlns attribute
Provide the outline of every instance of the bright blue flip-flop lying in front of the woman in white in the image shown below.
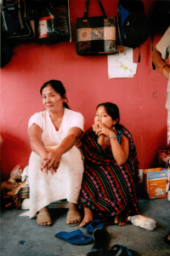
<svg viewBox="0 0 170 256"><path fill-rule="evenodd" d="M87 245L94 241L94 238L89 236L84 236L81 230L74 230L71 232L61 231L55 234L56 238L68 241L74 245Z"/></svg>

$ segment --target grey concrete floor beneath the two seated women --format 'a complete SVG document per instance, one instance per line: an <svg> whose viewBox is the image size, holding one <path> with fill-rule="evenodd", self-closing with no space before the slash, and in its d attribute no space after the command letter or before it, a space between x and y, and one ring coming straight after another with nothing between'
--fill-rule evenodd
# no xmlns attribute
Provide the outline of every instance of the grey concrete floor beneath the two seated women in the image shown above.
<svg viewBox="0 0 170 256"><path fill-rule="evenodd" d="M141 214L156 220L156 229L148 231L133 224L126 226L111 225L106 230L110 234L108 249L114 244L133 249L141 256L170 255L170 246L164 242L164 236L170 230L170 202L167 199L139 199ZM90 236L86 228L70 227L65 224L67 209L49 209L54 224L52 227L37 225L36 219L20 217L26 210L2 209L1 224L1 256L79 256L91 251L93 244L86 246L71 245L54 237L59 231L80 229L84 235ZM105 255L104 255L105 256Z"/></svg>

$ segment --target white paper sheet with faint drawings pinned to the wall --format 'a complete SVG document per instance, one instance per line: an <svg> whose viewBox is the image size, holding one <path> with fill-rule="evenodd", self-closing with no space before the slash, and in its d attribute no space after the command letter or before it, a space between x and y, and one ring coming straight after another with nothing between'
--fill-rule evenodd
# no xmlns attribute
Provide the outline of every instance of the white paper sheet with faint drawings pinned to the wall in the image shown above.
<svg viewBox="0 0 170 256"><path fill-rule="evenodd" d="M124 53L108 55L109 79L132 78L136 73L137 64L133 63L133 48L124 47Z"/></svg>

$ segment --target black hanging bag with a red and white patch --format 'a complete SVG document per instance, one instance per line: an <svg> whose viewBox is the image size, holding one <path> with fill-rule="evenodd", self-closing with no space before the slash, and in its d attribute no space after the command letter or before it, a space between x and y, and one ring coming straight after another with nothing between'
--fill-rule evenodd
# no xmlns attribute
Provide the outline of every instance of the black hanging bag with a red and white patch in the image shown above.
<svg viewBox="0 0 170 256"><path fill-rule="evenodd" d="M71 42L69 0L51 0L37 12L36 39L38 44Z"/></svg>

